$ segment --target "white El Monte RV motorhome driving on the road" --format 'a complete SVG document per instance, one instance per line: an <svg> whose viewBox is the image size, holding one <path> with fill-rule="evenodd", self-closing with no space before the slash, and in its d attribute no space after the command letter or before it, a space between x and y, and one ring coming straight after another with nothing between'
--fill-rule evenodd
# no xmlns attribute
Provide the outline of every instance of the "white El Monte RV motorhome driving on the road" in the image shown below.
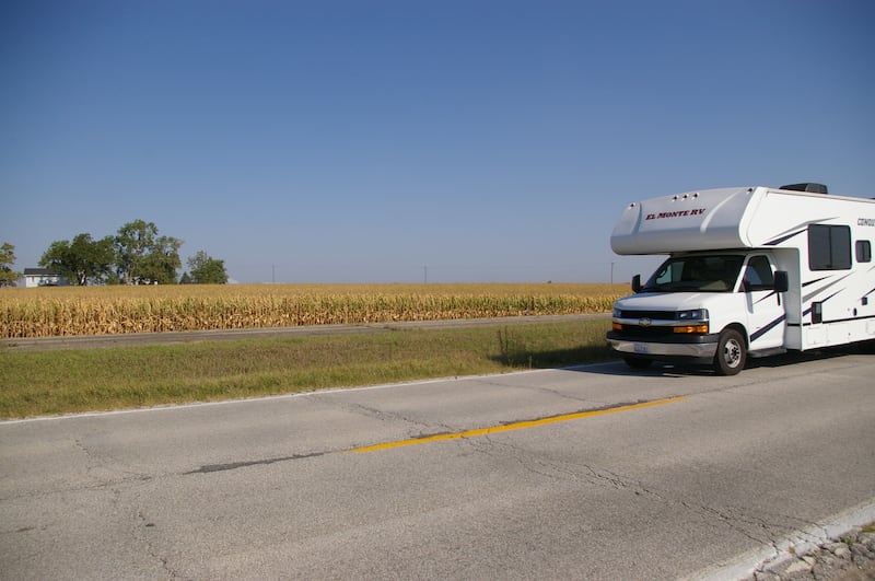
<svg viewBox="0 0 875 581"><path fill-rule="evenodd" d="M630 204L621 255L668 259L614 305L608 345L654 360L744 369L748 356L875 339L875 200L819 184L690 191Z"/></svg>

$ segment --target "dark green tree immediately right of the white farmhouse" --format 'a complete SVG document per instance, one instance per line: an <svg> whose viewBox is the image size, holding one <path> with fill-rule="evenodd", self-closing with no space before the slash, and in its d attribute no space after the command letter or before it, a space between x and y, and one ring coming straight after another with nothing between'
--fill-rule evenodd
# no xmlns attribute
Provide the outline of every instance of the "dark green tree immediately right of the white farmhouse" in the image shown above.
<svg viewBox="0 0 875 581"><path fill-rule="evenodd" d="M104 282L113 271L115 251L113 237L92 240L91 234L78 234L72 242L52 242L43 253L39 266L61 275L83 287L91 282Z"/></svg>

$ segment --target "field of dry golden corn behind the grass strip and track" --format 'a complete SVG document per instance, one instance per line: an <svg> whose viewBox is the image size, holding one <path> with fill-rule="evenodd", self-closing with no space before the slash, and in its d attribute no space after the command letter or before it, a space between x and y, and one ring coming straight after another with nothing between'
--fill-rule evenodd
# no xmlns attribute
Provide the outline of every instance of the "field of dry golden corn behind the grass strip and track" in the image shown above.
<svg viewBox="0 0 875 581"><path fill-rule="evenodd" d="M625 284L233 284L0 289L0 338L609 312Z"/></svg>

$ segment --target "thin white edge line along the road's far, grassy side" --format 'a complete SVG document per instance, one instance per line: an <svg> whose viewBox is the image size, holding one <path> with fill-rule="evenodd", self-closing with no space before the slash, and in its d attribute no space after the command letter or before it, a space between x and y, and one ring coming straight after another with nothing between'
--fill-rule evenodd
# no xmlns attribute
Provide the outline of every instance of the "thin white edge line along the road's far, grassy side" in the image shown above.
<svg viewBox="0 0 875 581"><path fill-rule="evenodd" d="M145 414L150 411L173 411L173 410L182 410L182 409L191 409L198 407L210 407L210 406L229 406L234 404L255 404L259 402L271 402L271 400L279 400L279 399L291 399L294 397L313 397L315 395L331 395L331 394L339 394L339 393L350 393L350 392L364 392L370 390L388 390L392 387L407 387L407 386L417 386L417 385L429 385L432 383L441 383L447 381L469 381L469 380L478 380L478 379L488 379L488 377L502 377L508 375L522 375L525 373L544 373L544 372L551 372L551 371L582 371L586 368L594 368L599 365L606 364L616 364L616 361L607 361L600 363L591 363L591 364L583 364L583 365L571 365L568 368L551 368L551 369L527 369L523 371L510 371L508 373L489 373L486 375L457 375L457 376L446 376L446 377L433 377L430 380L417 380L417 381L407 381L401 383L384 383L377 385L363 385L361 387L329 387L326 390L313 390L311 392L298 392L293 394L280 394L280 395L266 395L260 397L246 397L242 399L222 399L221 402L194 402L190 404L166 404L166 405L159 405L159 406L150 406L150 407L137 407L137 408L128 408L128 409L110 409L107 411L84 411L81 414L62 414L59 416L38 416L35 418L21 418L21 419L11 419L11 420L0 420L0 427L2 426L12 426L15 423L33 423L37 421L58 421L58 420L70 420L70 419L81 419L81 418L100 418L105 416L125 416L128 414Z"/></svg>

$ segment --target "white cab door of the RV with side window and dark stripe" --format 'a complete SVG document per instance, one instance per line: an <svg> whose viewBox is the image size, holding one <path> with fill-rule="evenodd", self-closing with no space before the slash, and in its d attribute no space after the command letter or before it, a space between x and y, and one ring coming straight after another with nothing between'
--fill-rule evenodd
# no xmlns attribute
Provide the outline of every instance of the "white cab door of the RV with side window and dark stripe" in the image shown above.
<svg viewBox="0 0 875 581"><path fill-rule="evenodd" d="M747 332L751 351L784 347L786 311L775 288L774 265L766 254L748 256L740 290L747 305Z"/></svg>

